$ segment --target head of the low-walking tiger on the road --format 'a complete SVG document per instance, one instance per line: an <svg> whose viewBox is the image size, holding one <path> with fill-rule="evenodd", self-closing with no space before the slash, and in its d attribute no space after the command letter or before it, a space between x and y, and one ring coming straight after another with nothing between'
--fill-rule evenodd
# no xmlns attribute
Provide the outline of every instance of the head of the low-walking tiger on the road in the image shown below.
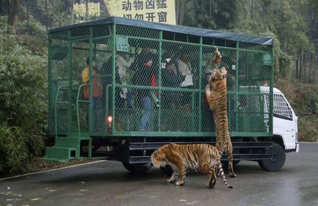
<svg viewBox="0 0 318 206"><path fill-rule="evenodd" d="M160 168L165 166L168 163L168 157L172 156L172 147L174 143L164 145L161 148L158 148L151 154L150 165L155 168Z"/></svg>

